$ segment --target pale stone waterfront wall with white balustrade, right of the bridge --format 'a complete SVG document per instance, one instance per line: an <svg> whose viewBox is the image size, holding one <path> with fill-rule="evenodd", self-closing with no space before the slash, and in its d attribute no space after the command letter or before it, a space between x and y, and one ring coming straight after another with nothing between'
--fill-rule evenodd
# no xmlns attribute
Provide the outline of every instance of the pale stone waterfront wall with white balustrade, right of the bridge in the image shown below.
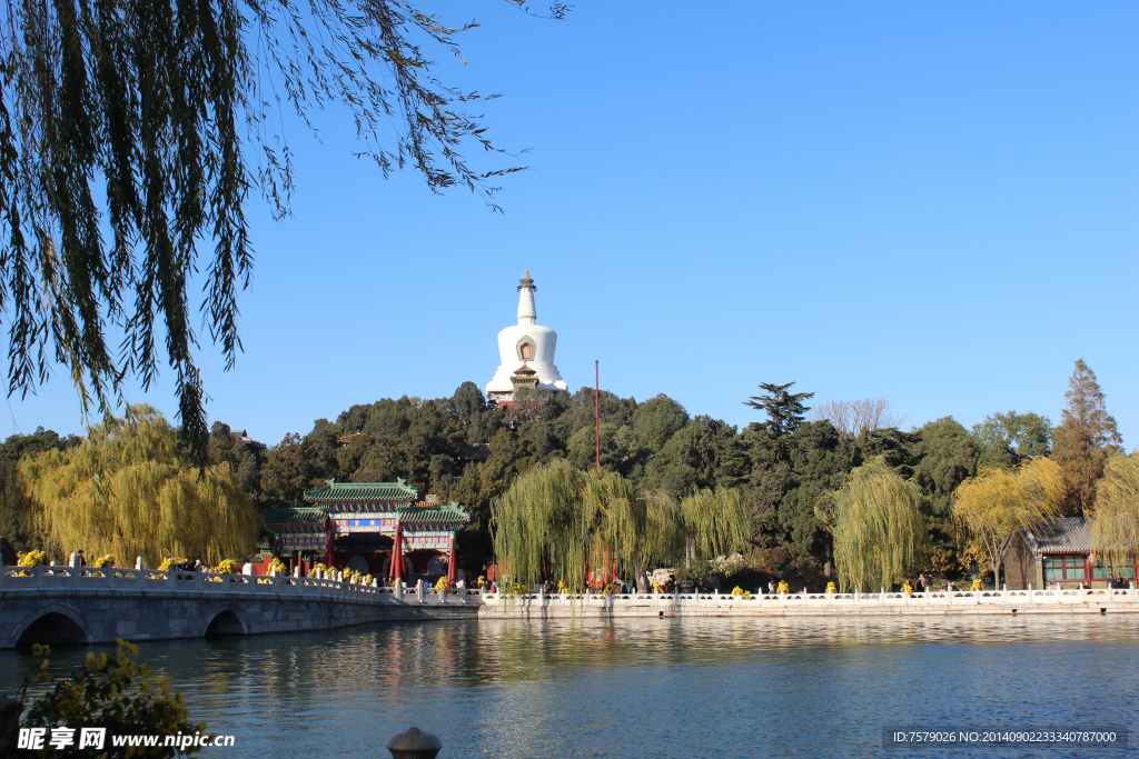
<svg viewBox="0 0 1139 759"><path fill-rule="evenodd" d="M485 594L480 618L858 617L1139 613L1139 591L1064 588L931 593Z"/></svg>

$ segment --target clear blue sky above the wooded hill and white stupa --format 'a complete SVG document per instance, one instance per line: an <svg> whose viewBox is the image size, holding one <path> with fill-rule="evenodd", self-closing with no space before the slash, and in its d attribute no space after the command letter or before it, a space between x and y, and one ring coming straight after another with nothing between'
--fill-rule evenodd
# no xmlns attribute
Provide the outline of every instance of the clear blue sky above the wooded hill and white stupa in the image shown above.
<svg viewBox="0 0 1139 759"><path fill-rule="evenodd" d="M435 6L431 6L435 7ZM443 13L453 6L437 3ZM484 386L517 280L538 284L571 388L666 393L734 424L763 381L882 397L906 424L1059 421L1073 363L1139 444L1139 6L588 2L562 22L465 3L499 92L469 157L505 214L431 195L286 122L293 216L251 205L256 271L212 420L269 444L352 404ZM58 372L57 372L58 373ZM167 372L149 394L173 419ZM3 427L79 431L66 373Z"/></svg>

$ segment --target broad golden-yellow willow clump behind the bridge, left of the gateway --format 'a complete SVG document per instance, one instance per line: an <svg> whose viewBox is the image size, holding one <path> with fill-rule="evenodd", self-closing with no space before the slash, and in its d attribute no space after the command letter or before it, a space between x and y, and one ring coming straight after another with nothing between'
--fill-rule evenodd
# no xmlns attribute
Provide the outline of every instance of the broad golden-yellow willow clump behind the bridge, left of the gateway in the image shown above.
<svg viewBox="0 0 1139 759"><path fill-rule="evenodd" d="M25 459L21 479L49 550L208 563L248 555L261 517L229 464L198 469L150 406L128 406L88 430L82 445Z"/></svg>

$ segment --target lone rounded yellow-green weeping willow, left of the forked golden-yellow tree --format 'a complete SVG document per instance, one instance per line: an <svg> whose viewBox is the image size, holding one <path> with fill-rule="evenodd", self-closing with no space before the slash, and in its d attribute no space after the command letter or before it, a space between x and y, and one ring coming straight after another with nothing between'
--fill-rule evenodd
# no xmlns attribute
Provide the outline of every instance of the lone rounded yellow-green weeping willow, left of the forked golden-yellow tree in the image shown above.
<svg viewBox="0 0 1139 759"><path fill-rule="evenodd" d="M921 488L882 459L852 471L834 501L835 568L844 591L892 585L925 558Z"/></svg>

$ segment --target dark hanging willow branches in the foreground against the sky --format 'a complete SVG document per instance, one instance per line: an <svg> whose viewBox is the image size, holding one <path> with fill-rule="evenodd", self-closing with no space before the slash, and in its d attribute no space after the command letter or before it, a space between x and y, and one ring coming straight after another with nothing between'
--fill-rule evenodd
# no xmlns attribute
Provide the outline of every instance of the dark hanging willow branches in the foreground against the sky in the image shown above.
<svg viewBox="0 0 1139 759"><path fill-rule="evenodd" d="M524 11L518 0L508 0ZM125 378L149 388L165 358L199 461L208 431L194 308L227 369L241 349L237 294L253 246L246 199L288 214L282 112L343 112L358 154L386 176L412 166L433 192L466 187L498 211L462 146L501 152L482 98L444 85L421 44L461 58L444 24L408 0L2 0L0 312L9 394L64 365L84 413ZM555 5L552 17L566 8ZM104 236L108 239L105 240ZM188 292L212 242L204 295ZM107 330L122 337L116 348ZM164 346L156 346L165 338ZM116 338L112 338L116 339Z"/></svg>

